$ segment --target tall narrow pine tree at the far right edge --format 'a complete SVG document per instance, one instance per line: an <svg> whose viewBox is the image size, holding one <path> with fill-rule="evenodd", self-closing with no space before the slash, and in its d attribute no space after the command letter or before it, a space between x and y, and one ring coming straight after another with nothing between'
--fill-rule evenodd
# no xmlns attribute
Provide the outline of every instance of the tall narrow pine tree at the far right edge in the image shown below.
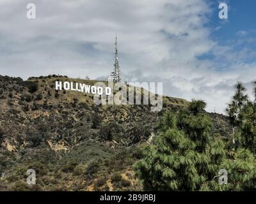
<svg viewBox="0 0 256 204"><path fill-rule="evenodd" d="M255 82L254 85L256 96ZM232 105L227 108L230 123L236 128L236 149L223 166L228 170L228 189L235 191L256 189L256 101L249 101L245 91L243 84L237 82Z"/></svg>

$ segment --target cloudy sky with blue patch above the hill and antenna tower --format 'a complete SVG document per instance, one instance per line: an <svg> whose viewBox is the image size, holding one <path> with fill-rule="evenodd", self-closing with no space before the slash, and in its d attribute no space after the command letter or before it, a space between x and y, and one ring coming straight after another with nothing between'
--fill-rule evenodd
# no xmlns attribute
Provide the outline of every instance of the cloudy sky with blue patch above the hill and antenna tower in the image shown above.
<svg viewBox="0 0 256 204"><path fill-rule="evenodd" d="M164 95L225 113L237 81L252 96L255 9L253 0L1 0L0 75L106 79L117 34L124 81L163 82Z"/></svg>

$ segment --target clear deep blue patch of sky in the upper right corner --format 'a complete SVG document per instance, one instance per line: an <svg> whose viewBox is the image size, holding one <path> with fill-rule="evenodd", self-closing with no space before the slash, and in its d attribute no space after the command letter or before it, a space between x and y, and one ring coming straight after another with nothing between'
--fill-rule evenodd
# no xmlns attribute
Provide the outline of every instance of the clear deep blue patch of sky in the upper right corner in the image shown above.
<svg viewBox="0 0 256 204"><path fill-rule="evenodd" d="M227 3L228 20L218 18L219 3ZM256 49L256 1L253 0L232 0L232 1L211 1L212 13L209 15L209 22L206 26L211 28L211 38L221 45L230 45L234 50L247 48ZM238 43L237 41L240 42ZM243 41L242 41L243 40ZM214 56L205 53L199 59L214 59ZM244 59L244 62L255 62L254 58ZM221 71L221 68L219 69Z"/></svg>

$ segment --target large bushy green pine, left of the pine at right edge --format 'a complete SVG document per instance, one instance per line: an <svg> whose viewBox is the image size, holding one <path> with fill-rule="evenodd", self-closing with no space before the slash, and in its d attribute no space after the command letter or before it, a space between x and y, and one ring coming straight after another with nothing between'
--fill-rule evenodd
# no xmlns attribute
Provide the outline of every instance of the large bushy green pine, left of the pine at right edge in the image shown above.
<svg viewBox="0 0 256 204"><path fill-rule="evenodd" d="M164 114L163 129L156 145L143 150L143 159L134 168L145 190L196 191L208 179L211 120L204 101L195 101L177 119Z"/></svg>

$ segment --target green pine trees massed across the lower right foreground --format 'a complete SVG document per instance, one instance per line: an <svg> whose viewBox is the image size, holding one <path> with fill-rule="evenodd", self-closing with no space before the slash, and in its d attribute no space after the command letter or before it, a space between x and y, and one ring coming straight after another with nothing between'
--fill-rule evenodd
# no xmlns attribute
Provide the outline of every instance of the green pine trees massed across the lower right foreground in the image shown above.
<svg viewBox="0 0 256 204"><path fill-rule="evenodd" d="M204 101L192 101L177 115L167 112L152 145L134 168L145 190L246 191L256 189L256 83L250 101L241 82L228 104L233 128L228 137L209 137L212 122ZM228 182L218 182L227 170Z"/></svg>

